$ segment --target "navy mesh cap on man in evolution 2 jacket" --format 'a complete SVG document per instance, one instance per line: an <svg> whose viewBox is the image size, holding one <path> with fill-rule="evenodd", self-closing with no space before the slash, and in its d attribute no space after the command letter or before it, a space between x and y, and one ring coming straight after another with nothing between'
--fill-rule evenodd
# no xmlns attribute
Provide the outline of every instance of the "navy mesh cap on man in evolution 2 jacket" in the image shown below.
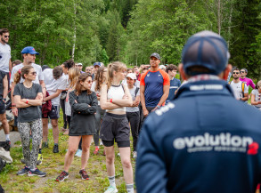
<svg viewBox="0 0 261 193"><path fill-rule="evenodd" d="M191 36L184 45L182 63L187 75L200 74L219 75L228 64L230 53L222 36L212 31L201 31ZM201 69L197 71L192 67L204 67L208 72Z"/></svg>

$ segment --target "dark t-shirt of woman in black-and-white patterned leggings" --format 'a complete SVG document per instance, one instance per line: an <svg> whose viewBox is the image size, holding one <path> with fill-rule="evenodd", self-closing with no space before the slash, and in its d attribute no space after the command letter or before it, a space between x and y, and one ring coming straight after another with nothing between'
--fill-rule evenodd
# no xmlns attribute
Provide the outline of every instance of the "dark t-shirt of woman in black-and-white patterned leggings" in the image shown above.
<svg viewBox="0 0 261 193"><path fill-rule="evenodd" d="M42 92L40 84L33 83L30 88L27 88L22 83L19 83L14 87L13 96L20 95L20 99L35 100L38 92ZM18 122L31 122L41 117L41 106L30 106L29 108L18 109Z"/></svg>

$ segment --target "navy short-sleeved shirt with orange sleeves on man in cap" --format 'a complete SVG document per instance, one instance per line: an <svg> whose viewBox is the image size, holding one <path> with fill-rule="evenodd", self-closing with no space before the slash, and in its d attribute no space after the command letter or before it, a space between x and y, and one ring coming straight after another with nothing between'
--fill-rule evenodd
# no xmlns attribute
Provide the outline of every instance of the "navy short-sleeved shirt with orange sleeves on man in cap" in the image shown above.
<svg viewBox="0 0 261 193"><path fill-rule="evenodd" d="M148 70L141 76L141 85L145 86L146 107L156 107L163 95L163 86L169 85L169 76L161 69Z"/></svg>

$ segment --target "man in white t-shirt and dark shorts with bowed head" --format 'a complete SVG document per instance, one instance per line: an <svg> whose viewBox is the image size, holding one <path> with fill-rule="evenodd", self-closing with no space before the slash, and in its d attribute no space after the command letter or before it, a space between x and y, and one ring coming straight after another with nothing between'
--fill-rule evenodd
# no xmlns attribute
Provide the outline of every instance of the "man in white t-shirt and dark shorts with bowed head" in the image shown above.
<svg viewBox="0 0 261 193"><path fill-rule="evenodd" d="M59 152L59 128L58 118L60 117L60 96L61 92L66 88L66 78L62 76L62 68L60 66L53 68L53 81L51 84L46 84L46 90L49 96L45 97L43 101L52 101L52 109L46 114L42 115L43 120L43 148L48 147L48 118L51 119L53 127L53 153Z"/></svg>

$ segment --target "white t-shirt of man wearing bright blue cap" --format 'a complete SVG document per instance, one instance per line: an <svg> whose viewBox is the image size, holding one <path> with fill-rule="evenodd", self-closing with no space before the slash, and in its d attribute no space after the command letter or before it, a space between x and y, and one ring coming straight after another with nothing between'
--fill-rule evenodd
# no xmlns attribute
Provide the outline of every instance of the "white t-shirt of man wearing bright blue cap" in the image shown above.
<svg viewBox="0 0 261 193"><path fill-rule="evenodd" d="M40 65L37 65L37 64L35 64L35 63L32 63L31 66L32 66L33 68L35 68L35 70L36 70L36 72L37 72L36 80L34 80L33 83L35 83L35 84L40 84L39 80L44 80L44 75L43 75L43 73L42 73L42 68L41 68ZM14 67L12 68L10 83L13 82L14 75L15 75L21 68L23 68L23 67L24 67L23 63L20 63L20 64L14 66ZM23 83L23 82L24 82L24 79L23 79L22 77L20 77L20 83Z"/></svg>

